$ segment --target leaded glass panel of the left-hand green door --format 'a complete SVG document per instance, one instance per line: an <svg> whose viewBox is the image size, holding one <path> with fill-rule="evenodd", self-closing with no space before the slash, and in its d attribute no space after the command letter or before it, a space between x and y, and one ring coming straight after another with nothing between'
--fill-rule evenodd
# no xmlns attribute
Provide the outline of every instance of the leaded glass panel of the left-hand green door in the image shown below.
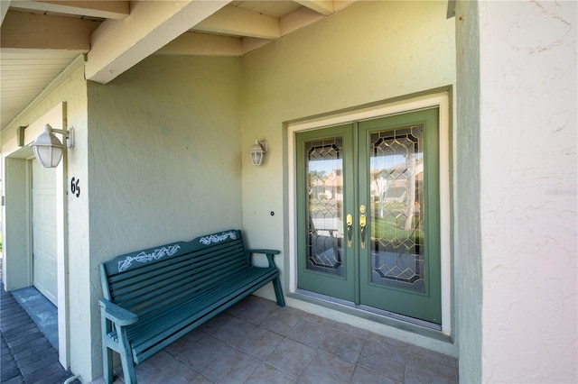
<svg viewBox="0 0 578 384"><path fill-rule="evenodd" d="M343 139L304 142L307 270L343 276Z"/></svg>

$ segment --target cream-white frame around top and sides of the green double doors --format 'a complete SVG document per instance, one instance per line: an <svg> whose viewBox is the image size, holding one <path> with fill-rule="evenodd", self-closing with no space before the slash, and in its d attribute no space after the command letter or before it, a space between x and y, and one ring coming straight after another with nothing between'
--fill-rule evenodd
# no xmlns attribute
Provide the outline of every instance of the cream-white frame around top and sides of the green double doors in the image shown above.
<svg viewBox="0 0 578 384"><path fill-rule="evenodd" d="M295 133L329 127L340 123L374 119L392 114L402 114L431 106L440 108L440 224L441 224L441 280L442 280L442 332L452 334L452 247L451 247L451 189L450 189L450 122L451 105L447 92L426 96L417 96L393 103L384 103L358 110L330 114L321 118L300 120L287 123L287 162L288 162L288 219L289 219L289 291L297 289L297 252L296 252L296 180L295 180Z"/></svg>

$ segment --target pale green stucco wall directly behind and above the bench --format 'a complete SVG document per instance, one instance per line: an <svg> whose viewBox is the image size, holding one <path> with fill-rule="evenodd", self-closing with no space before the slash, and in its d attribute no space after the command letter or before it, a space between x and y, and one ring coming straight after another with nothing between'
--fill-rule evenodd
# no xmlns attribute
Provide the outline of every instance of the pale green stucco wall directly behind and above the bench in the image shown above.
<svg viewBox="0 0 578 384"><path fill-rule="evenodd" d="M238 60L152 56L107 86L89 83L94 308L100 262L240 227ZM98 325L98 311L90 315ZM101 364L99 338L93 326L92 361Z"/></svg>

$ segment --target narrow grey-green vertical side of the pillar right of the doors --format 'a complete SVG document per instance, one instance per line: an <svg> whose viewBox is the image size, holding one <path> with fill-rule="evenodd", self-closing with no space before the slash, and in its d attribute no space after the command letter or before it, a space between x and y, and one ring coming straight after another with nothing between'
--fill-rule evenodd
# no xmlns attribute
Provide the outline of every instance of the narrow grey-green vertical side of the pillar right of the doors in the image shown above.
<svg viewBox="0 0 578 384"><path fill-rule="evenodd" d="M460 379L481 378L480 35L476 2L456 6L455 293Z"/></svg>

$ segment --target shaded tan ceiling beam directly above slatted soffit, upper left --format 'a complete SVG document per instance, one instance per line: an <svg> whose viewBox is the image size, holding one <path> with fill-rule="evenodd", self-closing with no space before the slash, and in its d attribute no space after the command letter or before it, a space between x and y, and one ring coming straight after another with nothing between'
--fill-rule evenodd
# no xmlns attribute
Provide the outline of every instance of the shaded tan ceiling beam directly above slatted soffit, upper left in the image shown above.
<svg viewBox="0 0 578 384"><path fill-rule="evenodd" d="M0 30L0 46L19 50L90 50L90 33L99 23L48 14L8 11Z"/></svg>

